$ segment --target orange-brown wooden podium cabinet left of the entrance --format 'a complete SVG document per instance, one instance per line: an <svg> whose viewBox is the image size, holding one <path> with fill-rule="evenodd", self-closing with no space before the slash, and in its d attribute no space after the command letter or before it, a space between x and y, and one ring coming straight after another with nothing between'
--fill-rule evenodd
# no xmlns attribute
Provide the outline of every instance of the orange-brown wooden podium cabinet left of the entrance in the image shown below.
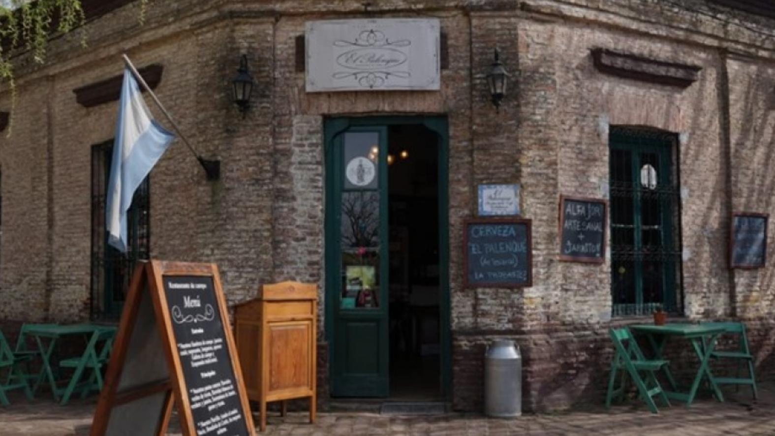
<svg viewBox="0 0 775 436"><path fill-rule="evenodd" d="M260 429L267 427L267 403L309 398L315 422L318 287L311 283L263 285L253 300L236 304L237 354L248 398L260 404Z"/></svg>

